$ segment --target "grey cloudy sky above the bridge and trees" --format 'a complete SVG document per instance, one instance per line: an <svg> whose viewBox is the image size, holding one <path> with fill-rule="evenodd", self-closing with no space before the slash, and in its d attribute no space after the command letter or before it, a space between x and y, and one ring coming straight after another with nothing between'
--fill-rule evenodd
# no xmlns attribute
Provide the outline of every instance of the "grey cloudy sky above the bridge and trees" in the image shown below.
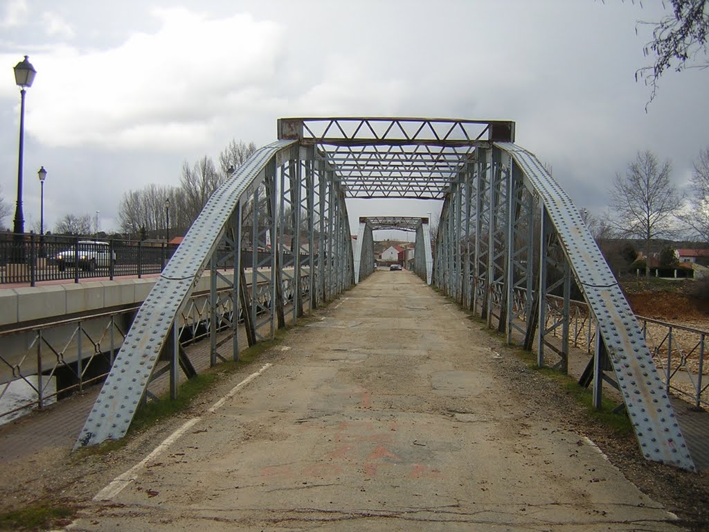
<svg viewBox="0 0 709 532"><path fill-rule="evenodd" d="M184 161L233 138L264 145L281 116L507 119L578 206L601 214L638 150L683 187L709 146L709 72L635 70L661 0L0 0L0 188L17 190L26 96L24 215L45 229L100 211L118 228L128 189L177 184ZM637 28L637 33L636 33ZM0 68L0 72L3 70ZM425 216L440 203L355 201L350 216ZM434 215L435 216L435 215Z"/></svg>

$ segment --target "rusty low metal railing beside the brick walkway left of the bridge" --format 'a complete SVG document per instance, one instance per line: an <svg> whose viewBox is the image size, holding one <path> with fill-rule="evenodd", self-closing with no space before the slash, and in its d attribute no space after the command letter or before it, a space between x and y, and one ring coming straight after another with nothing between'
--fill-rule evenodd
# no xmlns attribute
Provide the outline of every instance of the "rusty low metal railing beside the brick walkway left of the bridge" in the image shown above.
<svg viewBox="0 0 709 532"><path fill-rule="evenodd" d="M301 279L304 296L310 291L308 276L304 274ZM293 279L284 279L282 285L282 297L287 306L294 293ZM259 283L257 289L257 298L264 298L264 305L268 304L265 298L269 297L268 290L263 290L265 287ZM215 325L216 331L223 331L229 328L233 318L232 290L219 289L217 295ZM181 345L208 338L209 307L208 291L192 294L180 313L178 338ZM11 336L25 337L20 342L23 348L0 353L0 401L4 403L0 424L103 381L139 308L140 304L134 304L1 331L3 340ZM244 309L240 309L239 326L244 323L243 313ZM245 342L245 334L240 338ZM10 397L13 395L17 397Z"/></svg>

